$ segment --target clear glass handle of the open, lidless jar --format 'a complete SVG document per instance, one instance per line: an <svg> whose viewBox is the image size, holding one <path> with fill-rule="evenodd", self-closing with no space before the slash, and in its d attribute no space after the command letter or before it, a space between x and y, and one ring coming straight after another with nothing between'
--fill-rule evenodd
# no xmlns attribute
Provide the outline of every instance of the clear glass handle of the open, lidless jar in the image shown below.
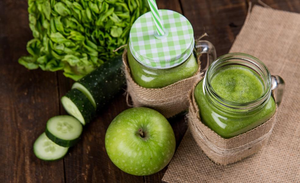
<svg viewBox="0 0 300 183"><path fill-rule="evenodd" d="M284 80L278 76L278 75L272 75L272 90L275 90L275 98L276 98L276 104L279 106L281 101L282 101L282 97L283 97L283 92L284 92Z"/></svg>

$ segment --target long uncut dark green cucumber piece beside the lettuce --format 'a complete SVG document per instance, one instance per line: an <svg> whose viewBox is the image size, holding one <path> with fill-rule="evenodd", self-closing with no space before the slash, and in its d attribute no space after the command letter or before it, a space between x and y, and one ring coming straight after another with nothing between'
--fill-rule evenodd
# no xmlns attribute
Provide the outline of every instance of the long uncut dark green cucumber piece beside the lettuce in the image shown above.
<svg viewBox="0 0 300 183"><path fill-rule="evenodd" d="M100 109L125 85L122 65L122 55L117 56L78 80L72 88L83 92Z"/></svg>

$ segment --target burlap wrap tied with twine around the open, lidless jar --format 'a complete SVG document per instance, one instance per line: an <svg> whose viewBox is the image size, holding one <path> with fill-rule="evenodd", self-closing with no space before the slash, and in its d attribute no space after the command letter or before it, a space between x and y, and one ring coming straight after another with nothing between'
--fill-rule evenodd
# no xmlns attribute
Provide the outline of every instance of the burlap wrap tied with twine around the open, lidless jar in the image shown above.
<svg viewBox="0 0 300 183"><path fill-rule="evenodd" d="M189 95L188 126L203 152L213 162L228 165L257 153L269 140L276 123L277 107L274 115L262 125L241 135L224 139L201 122L199 108L195 101L194 85Z"/></svg>

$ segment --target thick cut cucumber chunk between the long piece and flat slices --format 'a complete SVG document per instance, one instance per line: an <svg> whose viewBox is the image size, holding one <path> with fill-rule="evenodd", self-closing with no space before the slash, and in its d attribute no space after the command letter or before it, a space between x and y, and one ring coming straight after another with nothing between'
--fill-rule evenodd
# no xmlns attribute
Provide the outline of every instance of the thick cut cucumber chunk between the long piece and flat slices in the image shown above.
<svg viewBox="0 0 300 183"><path fill-rule="evenodd" d="M62 106L68 114L74 116L82 125L94 118L96 110L80 90L72 89L61 98Z"/></svg>

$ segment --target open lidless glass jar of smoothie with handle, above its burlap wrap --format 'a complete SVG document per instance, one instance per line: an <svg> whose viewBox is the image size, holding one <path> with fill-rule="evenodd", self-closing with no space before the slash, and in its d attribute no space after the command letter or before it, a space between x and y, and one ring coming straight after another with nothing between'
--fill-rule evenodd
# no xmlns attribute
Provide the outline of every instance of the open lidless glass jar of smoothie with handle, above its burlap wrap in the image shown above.
<svg viewBox="0 0 300 183"><path fill-rule="evenodd" d="M237 70L233 72L232 69ZM216 77L221 72L223 75ZM244 76L246 77L241 78ZM240 82L240 85L233 84L233 81ZM250 88L248 92L243 91L246 89L241 87L245 81ZM229 90L224 91L225 85L230 86L233 92L238 90L244 92L239 96L242 102L233 101L238 95ZM215 90L220 88L222 90L218 92ZM217 58L209 66L204 79L196 86L194 96L201 121L223 138L231 138L263 124L273 116L276 103L271 94L275 88L277 88L276 103L279 105L284 90L283 79L280 76L271 76L266 65L251 55L230 53ZM255 97L260 90L260 96Z"/></svg>

